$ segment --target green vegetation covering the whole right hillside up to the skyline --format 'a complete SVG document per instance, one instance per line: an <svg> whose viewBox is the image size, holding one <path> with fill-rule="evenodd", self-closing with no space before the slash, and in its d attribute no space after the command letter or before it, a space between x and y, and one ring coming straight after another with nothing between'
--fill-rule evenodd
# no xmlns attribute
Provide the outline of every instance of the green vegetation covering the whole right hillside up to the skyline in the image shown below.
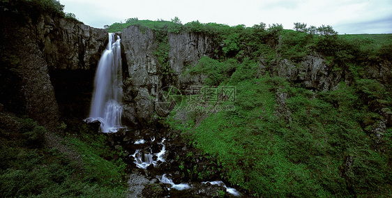
<svg viewBox="0 0 392 198"><path fill-rule="evenodd" d="M216 156L223 179L257 197L392 196L392 128L380 130L386 114L380 112L392 108L392 87L367 73L368 66L391 61L390 34L337 35L331 26L304 24L296 31L279 24L266 29L263 23L246 28L191 22L183 30L220 44L215 59L202 57L186 74L206 75L207 86L235 86L235 111L209 112L201 123L200 110L188 112L186 122L171 112L167 124ZM295 64L315 53L333 70L348 70L352 83L310 91L268 72L274 61Z"/></svg>

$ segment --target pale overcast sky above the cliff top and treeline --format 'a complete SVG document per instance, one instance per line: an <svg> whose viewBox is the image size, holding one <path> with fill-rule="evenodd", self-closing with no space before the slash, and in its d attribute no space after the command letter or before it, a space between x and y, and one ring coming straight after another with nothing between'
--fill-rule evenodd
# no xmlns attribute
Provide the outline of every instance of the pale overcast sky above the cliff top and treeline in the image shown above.
<svg viewBox="0 0 392 198"><path fill-rule="evenodd" d="M66 13L89 26L139 20L171 20L183 24L199 20L235 26L294 22L331 25L344 33L392 33L392 0L60 0Z"/></svg>

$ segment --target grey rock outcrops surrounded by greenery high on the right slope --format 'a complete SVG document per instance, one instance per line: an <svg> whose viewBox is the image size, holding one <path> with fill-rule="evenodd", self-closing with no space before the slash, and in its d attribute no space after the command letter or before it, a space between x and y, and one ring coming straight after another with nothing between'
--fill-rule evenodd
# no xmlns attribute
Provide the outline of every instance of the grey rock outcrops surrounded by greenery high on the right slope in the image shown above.
<svg viewBox="0 0 392 198"><path fill-rule="evenodd" d="M273 61L270 65L262 60L259 70L261 73L268 71L272 76L285 77L292 82L302 84L307 89L318 91L333 90L340 82L353 84L354 78L348 66L332 66L321 55L314 53L305 56L299 63L287 59ZM381 84L391 84L392 64L390 61L369 64L366 66L364 78L376 79Z"/></svg>

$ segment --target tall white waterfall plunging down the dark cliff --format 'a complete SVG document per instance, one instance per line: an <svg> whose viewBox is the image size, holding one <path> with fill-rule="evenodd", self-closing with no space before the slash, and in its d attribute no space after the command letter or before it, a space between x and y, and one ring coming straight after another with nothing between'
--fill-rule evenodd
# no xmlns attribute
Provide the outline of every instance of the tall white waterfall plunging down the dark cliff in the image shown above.
<svg viewBox="0 0 392 198"><path fill-rule="evenodd" d="M100 121L102 132L117 132L121 128L122 73L120 37L109 33L109 43L100 57L90 116L86 121Z"/></svg>

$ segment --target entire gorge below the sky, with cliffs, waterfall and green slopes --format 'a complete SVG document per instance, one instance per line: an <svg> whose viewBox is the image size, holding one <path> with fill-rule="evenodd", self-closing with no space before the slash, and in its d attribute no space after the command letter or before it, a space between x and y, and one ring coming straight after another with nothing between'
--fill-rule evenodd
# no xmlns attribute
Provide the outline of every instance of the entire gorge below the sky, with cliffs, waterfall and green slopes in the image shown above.
<svg viewBox="0 0 392 198"><path fill-rule="evenodd" d="M1 197L391 195L391 35L35 6L0 4Z"/></svg>

